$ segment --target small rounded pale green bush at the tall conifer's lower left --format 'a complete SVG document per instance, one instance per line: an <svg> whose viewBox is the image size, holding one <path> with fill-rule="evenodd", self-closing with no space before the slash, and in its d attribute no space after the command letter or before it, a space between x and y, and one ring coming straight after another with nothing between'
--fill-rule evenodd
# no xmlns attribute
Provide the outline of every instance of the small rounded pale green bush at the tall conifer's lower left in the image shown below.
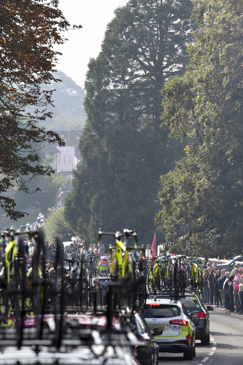
<svg viewBox="0 0 243 365"><path fill-rule="evenodd" d="M70 241L74 235L69 224L64 219L63 209L58 209L55 212L48 214L44 224L45 238L51 242L54 241L58 234L63 235L64 241Z"/></svg>

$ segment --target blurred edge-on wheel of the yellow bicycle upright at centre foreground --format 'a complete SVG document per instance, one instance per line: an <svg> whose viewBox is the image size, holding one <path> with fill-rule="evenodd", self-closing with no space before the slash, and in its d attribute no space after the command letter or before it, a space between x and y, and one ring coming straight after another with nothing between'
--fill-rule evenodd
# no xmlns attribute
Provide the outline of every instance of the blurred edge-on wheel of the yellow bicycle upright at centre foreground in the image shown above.
<svg viewBox="0 0 243 365"><path fill-rule="evenodd" d="M129 256L126 260L125 271L124 271L124 308L128 316L133 315L135 305L135 272L133 266L133 259Z"/></svg>

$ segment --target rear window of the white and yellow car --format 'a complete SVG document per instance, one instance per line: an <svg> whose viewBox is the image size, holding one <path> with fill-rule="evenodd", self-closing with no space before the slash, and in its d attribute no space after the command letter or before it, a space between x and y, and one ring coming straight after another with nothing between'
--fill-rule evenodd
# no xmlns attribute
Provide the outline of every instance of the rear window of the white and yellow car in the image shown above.
<svg viewBox="0 0 243 365"><path fill-rule="evenodd" d="M181 314L180 308L170 304L146 305L144 318L172 318Z"/></svg>

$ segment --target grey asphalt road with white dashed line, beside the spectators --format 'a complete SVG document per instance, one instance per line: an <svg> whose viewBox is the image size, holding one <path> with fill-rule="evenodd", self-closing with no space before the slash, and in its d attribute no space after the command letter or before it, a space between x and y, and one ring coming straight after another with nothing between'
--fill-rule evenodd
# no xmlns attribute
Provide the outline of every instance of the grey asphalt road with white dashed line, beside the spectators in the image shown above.
<svg viewBox="0 0 243 365"><path fill-rule="evenodd" d="M242 316L243 317L243 316ZM196 340L196 357L184 361L183 354L159 353L159 365L235 365L243 363L243 319L210 313L209 346Z"/></svg>

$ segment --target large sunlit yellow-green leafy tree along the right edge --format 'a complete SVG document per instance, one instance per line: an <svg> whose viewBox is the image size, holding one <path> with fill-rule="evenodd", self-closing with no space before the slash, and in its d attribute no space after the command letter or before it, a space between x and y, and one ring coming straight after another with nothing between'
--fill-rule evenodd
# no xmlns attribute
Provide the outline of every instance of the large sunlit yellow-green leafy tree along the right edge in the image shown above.
<svg viewBox="0 0 243 365"><path fill-rule="evenodd" d="M161 178L157 224L173 252L231 257L243 252L243 4L194 4L190 64L162 90L162 126L192 141Z"/></svg>

